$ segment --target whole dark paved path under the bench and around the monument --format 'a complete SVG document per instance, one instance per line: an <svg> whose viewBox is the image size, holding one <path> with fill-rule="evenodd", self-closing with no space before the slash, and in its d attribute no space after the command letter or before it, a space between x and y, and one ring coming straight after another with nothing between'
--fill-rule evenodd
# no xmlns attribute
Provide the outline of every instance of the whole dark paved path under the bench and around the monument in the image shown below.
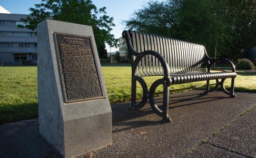
<svg viewBox="0 0 256 158"><path fill-rule="evenodd" d="M256 156L256 110L249 111L256 94L230 98L223 92L202 92L170 95L168 124L148 104L141 111L128 110L129 103L112 105L112 145L80 157ZM0 133L0 157L59 156L38 134L37 119L1 125Z"/></svg>

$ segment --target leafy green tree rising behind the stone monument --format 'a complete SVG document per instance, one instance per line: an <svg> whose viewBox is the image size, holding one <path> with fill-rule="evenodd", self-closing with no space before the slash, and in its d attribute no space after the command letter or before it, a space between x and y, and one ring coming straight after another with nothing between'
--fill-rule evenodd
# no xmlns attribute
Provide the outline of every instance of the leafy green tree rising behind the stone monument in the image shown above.
<svg viewBox="0 0 256 158"><path fill-rule="evenodd" d="M58 21L70 22L93 27L95 42L100 58L106 57L105 43L117 47L118 40L110 33L114 18L106 15L106 7L97 9L91 0L42 0L29 8L30 16L22 18L26 27L35 30L38 23L51 18Z"/></svg>

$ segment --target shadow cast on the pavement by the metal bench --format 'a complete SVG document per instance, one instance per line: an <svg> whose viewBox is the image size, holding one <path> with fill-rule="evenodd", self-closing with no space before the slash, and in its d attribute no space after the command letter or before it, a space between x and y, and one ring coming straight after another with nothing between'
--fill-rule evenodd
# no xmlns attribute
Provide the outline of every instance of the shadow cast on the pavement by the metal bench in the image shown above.
<svg viewBox="0 0 256 158"><path fill-rule="evenodd" d="M186 94L182 93L178 96L170 95L169 109L179 108L184 106L193 106L195 104L208 104L212 101L229 98L225 96L207 96L204 93ZM139 102L138 102L139 103ZM162 104L162 98L155 98L157 105ZM179 105L176 105L178 104ZM147 103L141 110L129 110L130 102L112 105L112 119L113 119L113 133L122 132L131 129L137 129L144 126L155 126L164 124L162 118L157 116L149 103ZM159 106L161 109L161 105ZM169 111L170 112L170 111ZM146 120L141 117L146 117Z"/></svg>

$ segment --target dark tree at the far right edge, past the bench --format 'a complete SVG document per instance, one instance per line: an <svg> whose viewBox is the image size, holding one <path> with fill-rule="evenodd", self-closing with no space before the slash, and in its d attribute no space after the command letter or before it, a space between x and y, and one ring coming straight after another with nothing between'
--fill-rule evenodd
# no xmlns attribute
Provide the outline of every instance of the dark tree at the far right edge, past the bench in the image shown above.
<svg viewBox="0 0 256 158"><path fill-rule="evenodd" d="M256 1L221 1L232 27L232 56L241 58L241 50L256 46Z"/></svg>

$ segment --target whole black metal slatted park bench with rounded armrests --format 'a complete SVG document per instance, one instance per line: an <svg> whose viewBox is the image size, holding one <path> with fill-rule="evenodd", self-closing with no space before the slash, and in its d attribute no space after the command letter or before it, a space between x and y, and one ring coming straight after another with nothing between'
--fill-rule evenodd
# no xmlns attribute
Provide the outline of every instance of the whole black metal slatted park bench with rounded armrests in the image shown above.
<svg viewBox="0 0 256 158"><path fill-rule="evenodd" d="M233 63L226 58L210 58L203 45L135 31L123 31L122 36L126 39L132 65L130 108L141 108L149 99L154 112L164 121L170 122L169 86L197 81L206 81L205 93L213 92L221 86L225 93L235 97L234 78L237 74ZM232 72L211 72L212 65L219 61L230 64ZM156 80L148 90L142 76L163 77ZM223 85L226 78L232 78L230 91L227 91ZM212 89L210 89L210 80L216 81ZM139 104L136 104L136 81L143 89L143 98ZM162 106L156 105L154 100L154 93L159 85L163 85Z"/></svg>

